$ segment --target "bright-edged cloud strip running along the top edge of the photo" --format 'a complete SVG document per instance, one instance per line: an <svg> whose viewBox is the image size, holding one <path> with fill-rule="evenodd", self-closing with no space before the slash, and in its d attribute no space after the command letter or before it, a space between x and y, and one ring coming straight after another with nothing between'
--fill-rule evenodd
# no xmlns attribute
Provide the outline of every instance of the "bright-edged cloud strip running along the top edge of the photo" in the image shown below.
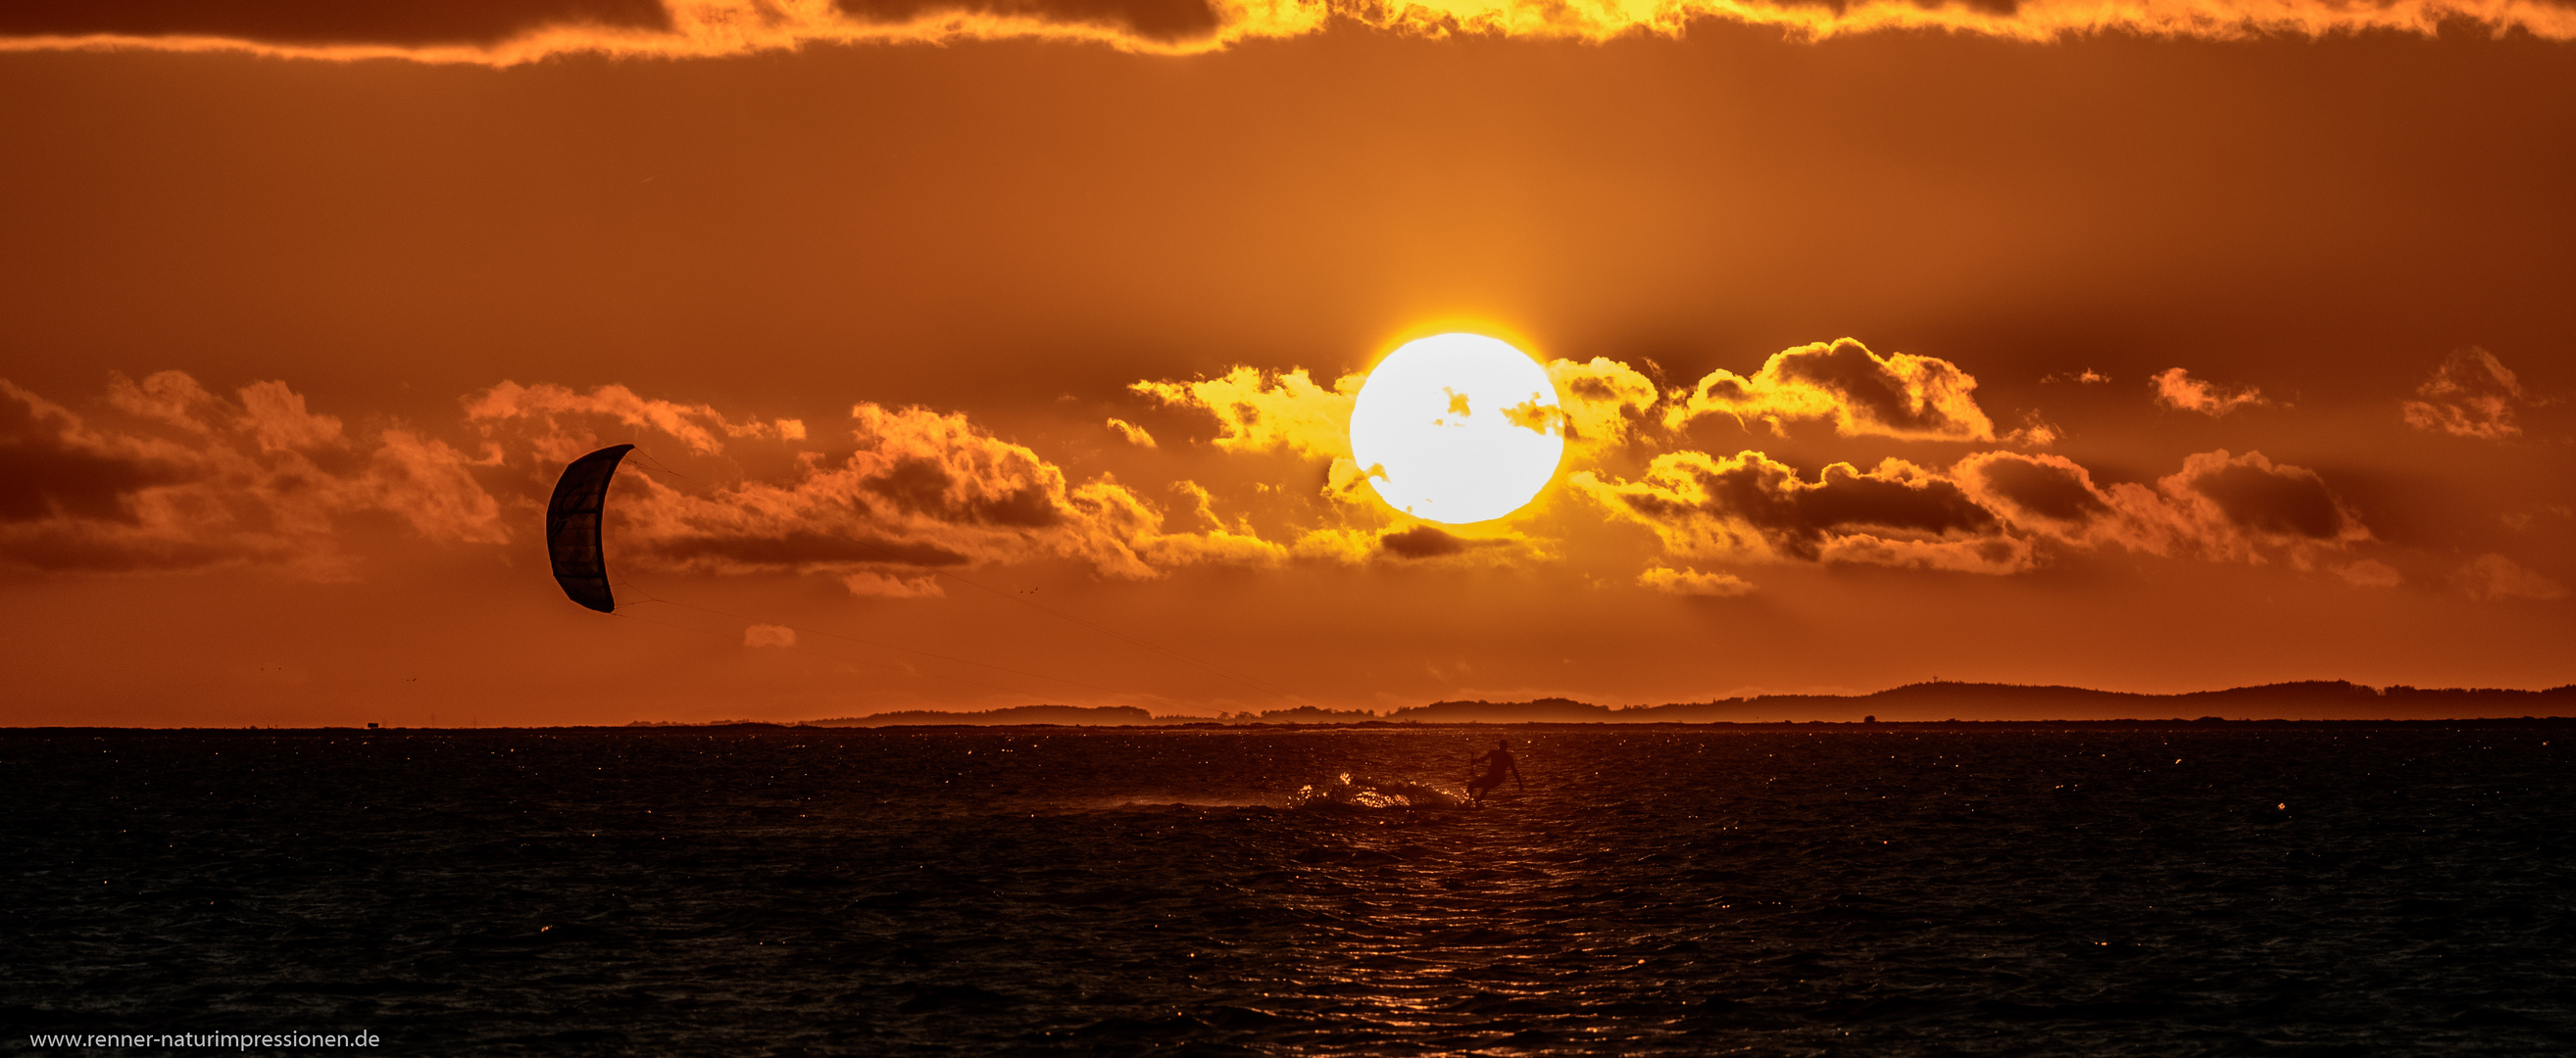
<svg viewBox="0 0 2576 1058"><path fill-rule="evenodd" d="M1953 31L2017 41L2094 33L2249 39L2411 31L2470 21L2576 39L2548 0L21 0L0 5L0 46L247 49L283 57L515 64L554 54L737 57L806 44L1090 41L1190 54L1321 33L1334 23L1406 36L1607 41L1682 36L1698 21L1775 26L1795 39Z"/></svg>

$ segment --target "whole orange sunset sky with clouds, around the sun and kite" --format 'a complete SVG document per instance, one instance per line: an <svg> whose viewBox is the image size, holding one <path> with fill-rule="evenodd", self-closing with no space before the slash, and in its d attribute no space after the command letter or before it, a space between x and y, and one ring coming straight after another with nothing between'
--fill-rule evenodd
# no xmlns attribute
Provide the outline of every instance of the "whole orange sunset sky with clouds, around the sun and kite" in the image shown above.
<svg viewBox="0 0 2576 1058"><path fill-rule="evenodd" d="M2576 682L2566 8L232 8L0 13L0 723Z"/></svg>

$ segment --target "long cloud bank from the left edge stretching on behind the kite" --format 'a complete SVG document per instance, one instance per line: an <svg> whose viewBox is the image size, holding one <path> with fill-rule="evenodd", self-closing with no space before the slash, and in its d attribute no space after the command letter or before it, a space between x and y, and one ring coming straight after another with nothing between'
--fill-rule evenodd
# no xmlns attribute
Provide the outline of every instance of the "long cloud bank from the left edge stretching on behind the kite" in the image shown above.
<svg viewBox="0 0 2576 1058"><path fill-rule="evenodd" d="M469 394L474 456L404 425L353 430L278 381L224 396L178 371L116 376L95 404L75 412L0 381L0 566L268 564L343 577L350 533L368 517L392 515L428 541L510 541L505 507L533 525L562 463L608 440L667 440L701 456L747 438L806 440L799 420L747 420L626 386ZM1291 559L1291 546L1218 523L1203 489L1195 512L1213 528L1164 530L1164 512L1115 479L1072 481L963 414L858 404L850 438L858 448L837 461L793 450L793 471L775 481L683 479L683 489L621 474L611 548L636 569L822 574L876 597L940 595L927 571L997 561L1072 559L1108 577L1159 577ZM484 492L477 474L505 492Z"/></svg>

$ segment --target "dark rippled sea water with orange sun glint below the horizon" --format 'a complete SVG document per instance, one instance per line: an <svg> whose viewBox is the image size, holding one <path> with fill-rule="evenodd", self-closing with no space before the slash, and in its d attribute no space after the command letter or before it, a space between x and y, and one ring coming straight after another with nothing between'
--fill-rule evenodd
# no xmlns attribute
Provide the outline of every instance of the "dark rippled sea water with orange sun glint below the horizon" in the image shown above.
<svg viewBox="0 0 2576 1058"><path fill-rule="evenodd" d="M2576 1053L2571 736L8 734L0 1048Z"/></svg>

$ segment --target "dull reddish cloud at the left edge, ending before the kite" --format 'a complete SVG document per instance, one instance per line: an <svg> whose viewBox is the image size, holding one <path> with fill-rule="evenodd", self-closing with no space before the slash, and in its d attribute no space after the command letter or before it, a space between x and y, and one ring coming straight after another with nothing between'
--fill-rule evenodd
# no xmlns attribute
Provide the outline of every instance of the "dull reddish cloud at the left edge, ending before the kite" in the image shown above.
<svg viewBox="0 0 2576 1058"><path fill-rule="evenodd" d="M39 571L294 566L340 574L350 520L502 543L464 453L402 427L350 432L283 381L229 399L162 371L108 378L95 414L0 381L0 566Z"/></svg>

